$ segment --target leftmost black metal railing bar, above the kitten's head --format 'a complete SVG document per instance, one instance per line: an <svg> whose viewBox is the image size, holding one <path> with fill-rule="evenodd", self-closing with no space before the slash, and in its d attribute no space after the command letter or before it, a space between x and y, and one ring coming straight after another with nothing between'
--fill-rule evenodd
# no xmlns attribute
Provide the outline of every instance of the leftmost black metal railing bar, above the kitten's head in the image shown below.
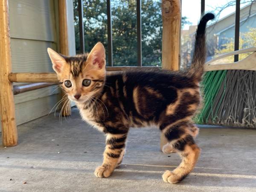
<svg viewBox="0 0 256 192"><path fill-rule="evenodd" d="M78 0L78 13L79 13L79 38L80 38L80 52L84 53L84 13L83 13L83 0Z"/></svg>

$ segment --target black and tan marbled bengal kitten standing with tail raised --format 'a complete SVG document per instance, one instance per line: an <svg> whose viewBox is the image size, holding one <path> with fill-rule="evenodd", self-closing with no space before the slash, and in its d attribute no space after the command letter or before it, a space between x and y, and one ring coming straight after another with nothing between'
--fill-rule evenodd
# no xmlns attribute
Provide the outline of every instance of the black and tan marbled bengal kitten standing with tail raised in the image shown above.
<svg viewBox="0 0 256 192"><path fill-rule="evenodd" d="M48 48L53 69L81 117L106 135L104 160L94 174L109 177L122 162L130 127L157 125L169 141L163 151L175 149L182 162L166 171L163 180L177 183L195 167L200 148L192 117L201 101L199 82L206 56L205 28L214 18L201 18L195 52L188 71L134 70L106 76L105 49L97 43L89 54L60 55ZM171 149L170 149L171 148Z"/></svg>

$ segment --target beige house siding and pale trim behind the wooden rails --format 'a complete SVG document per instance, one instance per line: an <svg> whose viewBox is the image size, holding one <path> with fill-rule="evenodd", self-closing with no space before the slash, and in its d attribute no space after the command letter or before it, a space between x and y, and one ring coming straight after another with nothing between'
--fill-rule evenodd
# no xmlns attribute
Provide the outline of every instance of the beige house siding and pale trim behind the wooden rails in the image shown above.
<svg viewBox="0 0 256 192"><path fill-rule="evenodd" d="M75 54L73 1L67 0L70 55ZM9 0L12 71L53 72L47 47L58 48L58 0ZM20 84L20 83L16 83ZM17 125L47 115L59 101L57 86L15 96Z"/></svg>

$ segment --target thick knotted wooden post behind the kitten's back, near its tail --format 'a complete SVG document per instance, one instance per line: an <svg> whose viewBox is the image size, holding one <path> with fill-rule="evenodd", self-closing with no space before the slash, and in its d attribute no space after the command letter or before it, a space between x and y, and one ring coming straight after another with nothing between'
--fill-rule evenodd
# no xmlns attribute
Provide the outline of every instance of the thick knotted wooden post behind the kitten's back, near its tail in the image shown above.
<svg viewBox="0 0 256 192"><path fill-rule="evenodd" d="M180 0L162 0L162 67L168 70L179 70L180 47ZM160 149L167 143L163 134L160 137Z"/></svg>

